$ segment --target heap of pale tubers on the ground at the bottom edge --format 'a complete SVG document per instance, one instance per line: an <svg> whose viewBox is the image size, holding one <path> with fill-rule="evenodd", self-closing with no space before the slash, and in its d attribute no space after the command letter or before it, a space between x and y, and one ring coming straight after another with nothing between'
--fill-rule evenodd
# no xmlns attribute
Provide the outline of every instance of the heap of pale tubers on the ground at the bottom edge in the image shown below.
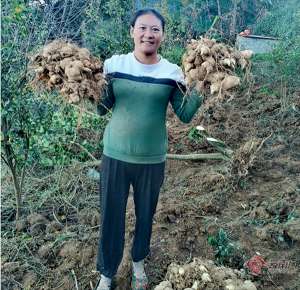
<svg viewBox="0 0 300 290"><path fill-rule="evenodd" d="M166 279L154 290L256 290L253 282L246 279L245 272L218 267L211 260L194 258L191 263L171 263Z"/></svg>

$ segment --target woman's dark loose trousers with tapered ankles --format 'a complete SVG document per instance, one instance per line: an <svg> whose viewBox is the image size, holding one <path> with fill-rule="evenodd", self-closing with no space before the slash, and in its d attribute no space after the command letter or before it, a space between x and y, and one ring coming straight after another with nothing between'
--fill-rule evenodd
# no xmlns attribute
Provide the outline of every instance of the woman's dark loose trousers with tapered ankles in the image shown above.
<svg viewBox="0 0 300 290"><path fill-rule="evenodd" d="M164 180L164 168L165 162L135 164L102 156L97 270L106 277L112 278L116 274L123 257L130 184L134 191L136 215L132 260L140 261L149 254L153 215Z"/></svg>

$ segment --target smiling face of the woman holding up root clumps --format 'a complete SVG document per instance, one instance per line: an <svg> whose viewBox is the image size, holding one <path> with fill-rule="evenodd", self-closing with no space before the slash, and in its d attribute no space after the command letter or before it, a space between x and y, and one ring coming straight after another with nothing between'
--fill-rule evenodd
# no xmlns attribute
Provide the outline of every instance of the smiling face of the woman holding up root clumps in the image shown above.
<svg viewBox="0 0 300 290"><path fill-rule="evenodd" d="M153 55L163 41L163 29L160 19L153 14L141 15L130 29L134 40L134 50L145 55Z"/></svg>

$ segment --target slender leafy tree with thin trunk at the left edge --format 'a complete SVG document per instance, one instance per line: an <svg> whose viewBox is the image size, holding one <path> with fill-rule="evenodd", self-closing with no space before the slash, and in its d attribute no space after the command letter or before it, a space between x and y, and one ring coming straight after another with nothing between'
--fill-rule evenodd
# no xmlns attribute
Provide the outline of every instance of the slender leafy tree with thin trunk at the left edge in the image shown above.
<svg viewBox="0 0 300 290"><path fill-rule="evenodd" d="M4 3L3 3L4 4ZM2 86L1 86L1 159L13 177L16 218L20 216L22 186L29 160L31 136L41 120L39 107L26 86L26 54L34 29L30 23L38 11L23 1L6 2L2 7ZM39 27L40 29L42 27ZM40 32L39 35L42 35Z"/></svg>

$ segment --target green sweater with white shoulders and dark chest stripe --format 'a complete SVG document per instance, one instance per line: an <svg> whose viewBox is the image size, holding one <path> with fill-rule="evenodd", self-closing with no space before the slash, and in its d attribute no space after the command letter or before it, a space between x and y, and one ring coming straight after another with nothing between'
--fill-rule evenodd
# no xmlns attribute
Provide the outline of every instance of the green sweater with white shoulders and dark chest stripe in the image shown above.
<svg viewBox="0 0 300 290"><path fill-rule="evenodd" d="M161 58L145 65L133 53L115 55L104 63L108 88L98 105L100 115L112 108L104 132L104 154L130 163L160 163L167 153L166 111L170 102L188 123L201 97L185 97L181 69Z"/></svg>

